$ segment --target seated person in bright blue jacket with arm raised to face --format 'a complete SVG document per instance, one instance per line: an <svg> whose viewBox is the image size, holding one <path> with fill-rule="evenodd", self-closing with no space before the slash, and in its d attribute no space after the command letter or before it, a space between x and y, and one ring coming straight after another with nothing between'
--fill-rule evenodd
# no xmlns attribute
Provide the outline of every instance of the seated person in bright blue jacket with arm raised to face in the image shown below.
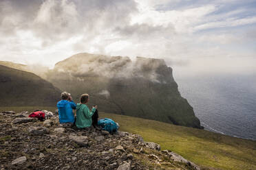
<svg viewBox="0 0 256 170"><path fill-rule="evenodd" d="M61 101L58 101L58 120L62 125L72 126L74 124L74 113L76 104L72 101L70 93L61 93Z"/></svg>

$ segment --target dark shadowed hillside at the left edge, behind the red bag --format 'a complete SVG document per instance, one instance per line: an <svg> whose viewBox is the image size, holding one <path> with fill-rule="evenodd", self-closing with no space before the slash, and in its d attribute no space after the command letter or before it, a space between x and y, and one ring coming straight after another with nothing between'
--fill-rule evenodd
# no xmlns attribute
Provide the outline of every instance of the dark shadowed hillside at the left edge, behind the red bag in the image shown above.
<svg viewBox="0 0 256 170"><path fill-rule="evenodd" d="M41 77L0 65L0 106L56 106L60 90Z"/></svg>

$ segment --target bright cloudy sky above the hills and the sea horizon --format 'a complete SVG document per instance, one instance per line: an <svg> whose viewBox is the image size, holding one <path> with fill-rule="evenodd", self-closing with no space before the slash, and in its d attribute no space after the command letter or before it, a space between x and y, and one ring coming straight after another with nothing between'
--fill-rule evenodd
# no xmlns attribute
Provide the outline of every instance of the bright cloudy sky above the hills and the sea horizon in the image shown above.
<svg viewBox="0 0 256 170"><path fill-rule="evenodd" d="M0 60L53 67L76 53L256 73L256 0L0 0Z"/></svg>

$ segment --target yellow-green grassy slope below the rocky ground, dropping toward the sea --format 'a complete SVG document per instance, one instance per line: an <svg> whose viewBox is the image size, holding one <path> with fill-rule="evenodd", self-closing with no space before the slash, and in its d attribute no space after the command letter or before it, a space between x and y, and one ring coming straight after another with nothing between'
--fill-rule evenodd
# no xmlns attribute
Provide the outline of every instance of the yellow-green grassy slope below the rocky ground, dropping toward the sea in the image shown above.
<svg viewBox="0 0 256 170"><path fill-rule="evenodd" d="M32 111L34 108L3 108L1 110ZM54 111L56 108L42 108ZM121 131L140 134L145 141L159 143L162 149L174 151L201 167L214 169L256 169L256 142L198 130L100 112L100 117L114 119Z"/></svg>

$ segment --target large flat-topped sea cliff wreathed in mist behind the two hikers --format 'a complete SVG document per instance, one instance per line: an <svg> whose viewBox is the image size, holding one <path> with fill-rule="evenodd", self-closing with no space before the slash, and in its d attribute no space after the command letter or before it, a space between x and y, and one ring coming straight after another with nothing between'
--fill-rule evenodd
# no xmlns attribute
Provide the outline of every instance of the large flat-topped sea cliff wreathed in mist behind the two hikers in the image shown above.
<svg viewBox="0 0 256 170"><path fill-rule="evenodd" d="M58 62L47 80L72 93L76 101L88 93L89 104L103 112L201 127L164 60L137 58L132 62L127 57L78 53Z"/></svg>

